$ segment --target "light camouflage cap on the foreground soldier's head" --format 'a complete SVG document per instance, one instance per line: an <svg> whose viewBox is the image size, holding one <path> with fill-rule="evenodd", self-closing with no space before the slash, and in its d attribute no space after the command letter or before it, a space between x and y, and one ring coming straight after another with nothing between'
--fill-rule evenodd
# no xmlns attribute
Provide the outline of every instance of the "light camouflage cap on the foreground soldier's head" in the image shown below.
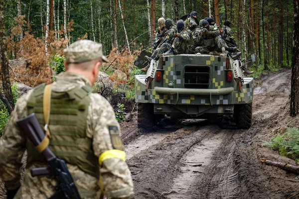
<svg viewBox="0 0 299 199"><path fill-rule="evenodd" d="M103 55L102 49L102 44L83 39L72 43L63 52L67 63L81 63L97 59L108 63L109 60Z"/></svg>

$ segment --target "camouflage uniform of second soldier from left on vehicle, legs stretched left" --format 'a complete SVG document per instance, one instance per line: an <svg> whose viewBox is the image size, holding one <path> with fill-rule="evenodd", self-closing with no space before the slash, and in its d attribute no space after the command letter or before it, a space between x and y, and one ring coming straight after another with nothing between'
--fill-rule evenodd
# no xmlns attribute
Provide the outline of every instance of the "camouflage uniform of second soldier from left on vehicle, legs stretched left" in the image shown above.
<svg viewBox="0 0 299 199"><path fill-rule="evenodd" d="M155 57L160 57L162 56L162 54L164 52L166 52L167 50L169 50L169 48L171 48L171 45L174 41L174 34L177 33L177 29L175 25L172 25L170 27L169 30L167 30L167 34L165 36L165 38L167 38L167 40L159 47L157 48L152 55L150 56L150 58L155 58Z"/></svg>

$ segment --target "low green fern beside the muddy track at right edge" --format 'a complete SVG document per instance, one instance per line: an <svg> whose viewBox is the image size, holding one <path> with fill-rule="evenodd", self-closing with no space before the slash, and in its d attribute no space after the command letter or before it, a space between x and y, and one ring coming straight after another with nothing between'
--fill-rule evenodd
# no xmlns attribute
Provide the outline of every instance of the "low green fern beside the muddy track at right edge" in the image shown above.
<svg viewBox="0 0 299 199"><path fill-rule="evenodd" d="M277 134L270 142L264 142L262 146L279 151L283 156L294 159L299 163L299 129L286 128L283 134Z"/></svg>

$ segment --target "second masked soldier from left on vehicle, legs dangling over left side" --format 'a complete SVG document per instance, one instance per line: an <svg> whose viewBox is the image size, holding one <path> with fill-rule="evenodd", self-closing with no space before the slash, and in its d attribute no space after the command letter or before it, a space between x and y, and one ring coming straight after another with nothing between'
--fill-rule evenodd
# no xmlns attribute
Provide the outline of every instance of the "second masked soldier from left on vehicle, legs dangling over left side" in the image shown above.
<svg viewBox="0 0 299 199"><path fill-rule="evenodd" d="M171 19L166 19L165 20L165 27L168 29L165 38L163 39L163 43L161 44L161 46L159 48L157 48L150 57L145 56L148 61L150 62L152 59L153 60L158 60L159 57L165 53L169 48L171 48L171 45L174 41L174 35L177 33L177 28L176 26L173 24ZM147 72L149 69L149 66L141 69L143 72Z"/></svg>

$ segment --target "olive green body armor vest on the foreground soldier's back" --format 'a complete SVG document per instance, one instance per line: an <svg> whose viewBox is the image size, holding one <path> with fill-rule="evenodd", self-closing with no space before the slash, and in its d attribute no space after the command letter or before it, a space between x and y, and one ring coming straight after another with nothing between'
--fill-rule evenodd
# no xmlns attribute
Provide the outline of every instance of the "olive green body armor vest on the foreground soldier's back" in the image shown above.
<svg viewBox="0 0 299 199"><path fill-rule="evenodd" d="M42 128L43 93L45 84L35 88L27 101L27 113L35 113ZM86 136L87 114L90 103L89 94L93 89L89 86L74 88L67 92L51 92L49 125L50 144L53 153L69 164L77 165L85 173L99 177L98 157L93 153L92 139ZM35 162L45 162L32 142L27 140L27 167Z"/></svg>

